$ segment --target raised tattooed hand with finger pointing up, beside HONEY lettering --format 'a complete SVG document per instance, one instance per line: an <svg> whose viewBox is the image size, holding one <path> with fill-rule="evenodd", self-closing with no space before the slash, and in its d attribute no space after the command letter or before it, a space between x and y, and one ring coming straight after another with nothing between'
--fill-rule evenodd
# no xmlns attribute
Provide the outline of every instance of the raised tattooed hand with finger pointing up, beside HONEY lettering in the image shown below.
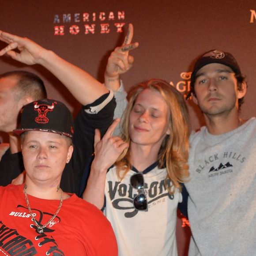
<svg viewBox="0 0 256 256"><path fill-rule="evenodd" d="M134 58L129 55L129 52L139 46L138 42L132 43L132 38L133 26L129 24L124 43L120 47L117 47L108 59L104 76L105 86L110 90L117 91L120 87L120 75L132 68Z"/></svg>

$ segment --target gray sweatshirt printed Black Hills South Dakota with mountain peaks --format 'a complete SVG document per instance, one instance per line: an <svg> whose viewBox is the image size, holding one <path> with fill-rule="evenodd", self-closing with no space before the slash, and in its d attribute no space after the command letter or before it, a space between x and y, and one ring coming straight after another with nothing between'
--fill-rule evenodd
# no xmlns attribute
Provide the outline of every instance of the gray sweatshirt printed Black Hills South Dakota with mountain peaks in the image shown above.
<svg viewBox="0 0 256 256"><path fill-rule="evenodd" d="M256 255L255 117L222 135L192 135L189 170L189 255Z"/></svg>

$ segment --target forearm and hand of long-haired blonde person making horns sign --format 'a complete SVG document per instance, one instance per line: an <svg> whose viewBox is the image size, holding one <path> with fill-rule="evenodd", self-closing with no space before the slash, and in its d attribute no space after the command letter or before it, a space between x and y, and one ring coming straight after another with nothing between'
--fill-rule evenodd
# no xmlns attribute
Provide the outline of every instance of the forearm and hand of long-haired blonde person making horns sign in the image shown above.
<svg viewBox="0 0 256 256"><path fill-rule="evenodd" d="M94 204L99 209L102 209L104 205L107 170L117 161L124 149L129 147L129 144L124 143L120 137L112 137L118 123L119 120L114 120L102 139L100 139L100 132L95 130L95 158L91 165L87 187L83 192L83 199Z"/></svg>

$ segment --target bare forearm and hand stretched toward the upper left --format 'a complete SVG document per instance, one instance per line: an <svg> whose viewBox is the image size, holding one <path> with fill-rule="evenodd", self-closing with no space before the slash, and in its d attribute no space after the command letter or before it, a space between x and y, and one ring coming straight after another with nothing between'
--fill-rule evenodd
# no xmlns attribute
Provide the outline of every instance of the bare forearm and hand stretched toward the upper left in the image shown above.
<svg viewBox="0 0 256 256"><path fill-rule="evenodd" d="M0 51L24 64L41 64L55 75L82 104L94 102L109 90L81 68L69 63L28 38L22 38L0 30L0 40L8 45ZM19 53L14 49L18 49Z"/></svg>

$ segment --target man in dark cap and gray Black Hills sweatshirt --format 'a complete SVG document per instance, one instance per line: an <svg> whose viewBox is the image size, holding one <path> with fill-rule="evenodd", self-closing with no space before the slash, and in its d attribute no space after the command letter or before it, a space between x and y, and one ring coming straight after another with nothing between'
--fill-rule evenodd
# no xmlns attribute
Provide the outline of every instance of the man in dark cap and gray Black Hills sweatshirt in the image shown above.
<svg viewBox="0 0 256 256"><path fill-rule="evenodd" d="M206 126L190 138L189 255L255 255L256 119L241 120L247 86L235 58L220 50L201 56L191 94Z"/></svg>

